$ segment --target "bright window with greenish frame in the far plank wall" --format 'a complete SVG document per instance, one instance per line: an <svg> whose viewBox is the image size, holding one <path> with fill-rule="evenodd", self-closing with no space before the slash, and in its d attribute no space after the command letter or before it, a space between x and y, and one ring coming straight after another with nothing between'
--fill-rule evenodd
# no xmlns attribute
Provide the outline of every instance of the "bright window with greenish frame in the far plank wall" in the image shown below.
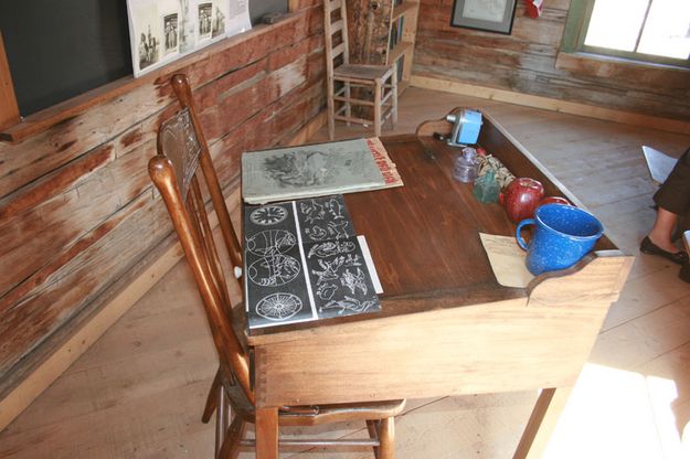
<svg viewBox="0 0 690 459"><path fill-rule="evenodd" d="M690 1L572 0L562 47L690 67Z"/></svg>

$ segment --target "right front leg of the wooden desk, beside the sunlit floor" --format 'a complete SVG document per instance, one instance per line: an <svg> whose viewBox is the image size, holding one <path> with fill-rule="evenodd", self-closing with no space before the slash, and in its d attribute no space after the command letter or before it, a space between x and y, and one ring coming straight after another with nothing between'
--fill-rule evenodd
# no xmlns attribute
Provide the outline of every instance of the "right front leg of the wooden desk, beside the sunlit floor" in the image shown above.
<svg viewBox="0 0 690 459"><path fill-rule="evenodd" d="M551 434L571 391L572 387L550 387L541 391L513 459L542 458L544 456Z"/></svg>

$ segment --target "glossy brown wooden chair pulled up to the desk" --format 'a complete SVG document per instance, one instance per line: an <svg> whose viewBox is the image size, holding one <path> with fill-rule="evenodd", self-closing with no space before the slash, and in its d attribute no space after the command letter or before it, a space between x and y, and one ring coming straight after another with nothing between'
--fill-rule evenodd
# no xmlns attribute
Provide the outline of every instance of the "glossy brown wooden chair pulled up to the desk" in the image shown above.
<svg viewBox="0 0 690 459"><path fill-rule="evenodd" d="M182 110L166 120L158 132L158 154L149 161L149 174L168 207L174 230L192 269L206 312L213 342L220 360L219 371L206 401L202 420L209 421L216 410L216 457L235 458L244 440L246 423L254 421L254 389L250 377L251 354L246 349L242 303L233 305L219 258L202 190L210 194L212 209L220 223L230 261L242 266L241 246L233 230L213 169L206 142L192 106L184 75L171 81ZM205 182L205 186L201 182ZM240 282L240 276L232 278ZM240 287L240 291L243 291ZM289 440L291 446L371 446L379 459L393 458L393 417L405 401L284 407L279 424L315 426L343 420L365 420L370 438L362 440ZM232 409L231 409L232 408ZM231 416L234 414L234 416ZM231 421L232 418L232 421Z"/></svg>

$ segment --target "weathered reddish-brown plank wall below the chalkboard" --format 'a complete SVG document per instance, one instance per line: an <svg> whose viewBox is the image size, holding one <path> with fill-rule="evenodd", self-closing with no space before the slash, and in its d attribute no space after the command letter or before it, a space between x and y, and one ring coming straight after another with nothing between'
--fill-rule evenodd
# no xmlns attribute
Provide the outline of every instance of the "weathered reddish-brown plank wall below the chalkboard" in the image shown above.
<svg viewBox="0 0 690 459"><path fill-rule="evenodd" d="M269 32L176 70L190 76L226 195L242 151L288 142L325 105L320 1L291 6ZM170 74L0 143L0 398L173 241L147 173L157 127L177 109Z"/></svg>

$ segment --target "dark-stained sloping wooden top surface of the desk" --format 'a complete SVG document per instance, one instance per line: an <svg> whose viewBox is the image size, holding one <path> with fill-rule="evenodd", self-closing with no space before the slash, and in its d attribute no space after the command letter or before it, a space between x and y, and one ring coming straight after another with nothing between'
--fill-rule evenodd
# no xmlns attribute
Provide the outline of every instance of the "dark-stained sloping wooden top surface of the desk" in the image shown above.
<svg viewBox="0 0 690 459"><path fill-rule="evenodd" d="M252 335L528 296L528 289L502 287L493 276L479 233L512 235L516 226L499 204L479 203L471 184L453 179L453 157L459 150L414 135L382 141L405 185L346 195L354 228L367 237L383 285L382 311L253 330ZM516 175L542 181L548 195L573 201L488 120L479 143L489 145L488 151ZM596 248L615 246L604 237Z"/></svg>

